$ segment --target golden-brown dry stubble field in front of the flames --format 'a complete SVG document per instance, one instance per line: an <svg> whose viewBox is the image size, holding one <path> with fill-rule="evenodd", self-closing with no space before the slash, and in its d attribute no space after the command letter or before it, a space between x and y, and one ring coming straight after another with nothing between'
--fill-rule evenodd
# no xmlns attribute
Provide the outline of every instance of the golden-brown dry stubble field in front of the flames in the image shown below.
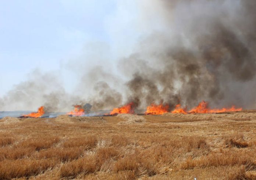
<svg viewBox="0 0 256 180"><path fill-rule="evenodd" d="M256 179L256 113L0 120L0 179Z"/></svg>

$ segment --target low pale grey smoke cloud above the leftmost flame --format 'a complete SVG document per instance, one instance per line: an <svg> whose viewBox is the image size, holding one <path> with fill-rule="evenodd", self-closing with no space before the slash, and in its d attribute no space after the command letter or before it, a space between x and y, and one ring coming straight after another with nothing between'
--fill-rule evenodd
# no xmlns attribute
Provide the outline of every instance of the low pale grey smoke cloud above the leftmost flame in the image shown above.
<svg viewBox="0 0 256 180"><path fill-rule="evenodd" d="M1 109L6 110L37 110L45 106L48 112L65 111L81 98L65 92L56 73L42 73L34 70L26 81L15 85L2 98Z"/></svg>

